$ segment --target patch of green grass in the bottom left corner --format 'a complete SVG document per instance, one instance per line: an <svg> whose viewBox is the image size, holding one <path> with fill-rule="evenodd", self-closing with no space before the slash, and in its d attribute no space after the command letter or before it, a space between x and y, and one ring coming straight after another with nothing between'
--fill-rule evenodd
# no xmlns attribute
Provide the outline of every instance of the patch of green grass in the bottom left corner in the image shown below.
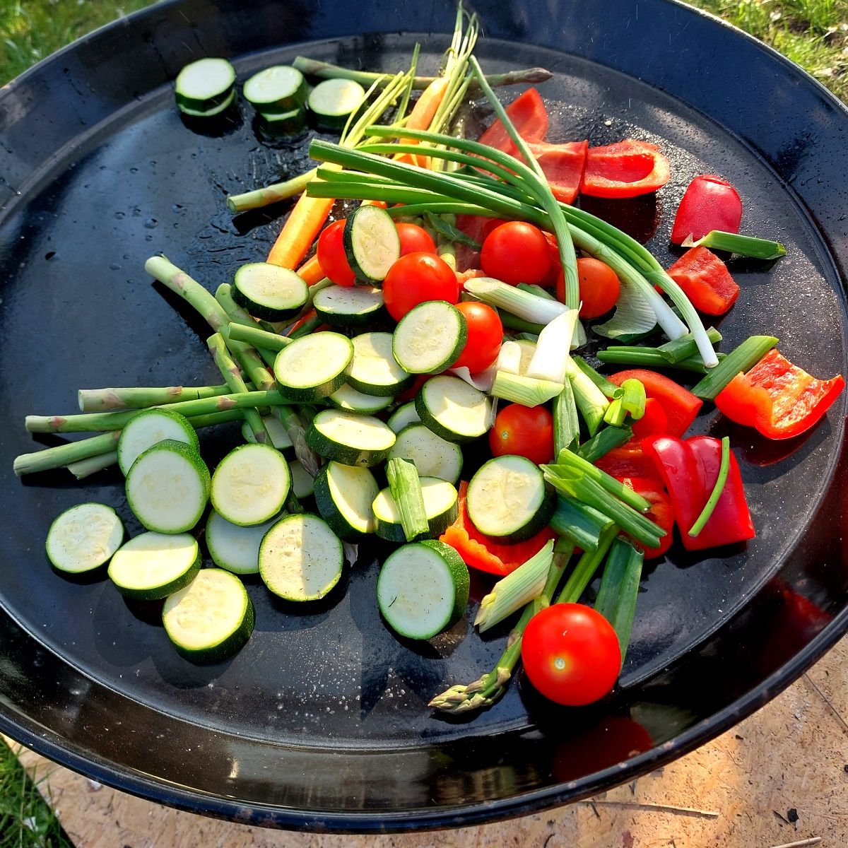
<svg viewBox="0 0 848 848"><path fill-rule="evenodd" d="M59 819L2 738L0 848L74 848Z"/></svg>

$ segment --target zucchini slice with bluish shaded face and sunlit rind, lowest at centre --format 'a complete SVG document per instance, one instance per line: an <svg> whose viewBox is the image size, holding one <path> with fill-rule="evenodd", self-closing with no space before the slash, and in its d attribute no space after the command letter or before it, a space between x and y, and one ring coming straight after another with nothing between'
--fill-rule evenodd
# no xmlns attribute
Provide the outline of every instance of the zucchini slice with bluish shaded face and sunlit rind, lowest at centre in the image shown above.
<svg viewBox="0 0 848 848"><path fill-rule="evenodd" d="M377 605L406 639L432 639L465 615L471 579L448 544L428 539L388 555L377 577Z"/></svg>

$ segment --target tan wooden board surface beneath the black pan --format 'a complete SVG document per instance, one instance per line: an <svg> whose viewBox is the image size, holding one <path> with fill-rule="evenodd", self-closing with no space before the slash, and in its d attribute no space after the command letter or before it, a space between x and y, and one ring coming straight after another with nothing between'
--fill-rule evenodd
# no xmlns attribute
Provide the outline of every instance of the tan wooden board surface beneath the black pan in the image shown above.
<svg viewBox="0 0 848 848"><path fill-rule="evenodd" d="M29 750L20 758L77 848L843 848L846 719L848 637L736 728L632 784L508 822L386 836L220 822L95 784Z"/></svg>

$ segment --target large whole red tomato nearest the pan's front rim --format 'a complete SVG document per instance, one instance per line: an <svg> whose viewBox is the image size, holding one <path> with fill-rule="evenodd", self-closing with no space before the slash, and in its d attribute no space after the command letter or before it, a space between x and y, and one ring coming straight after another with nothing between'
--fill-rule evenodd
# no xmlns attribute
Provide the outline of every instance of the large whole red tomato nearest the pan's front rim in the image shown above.
<svg viewBox="0 0 848 848"><path fill-rule="evenodd" d="M522 663L545 698L583 706L604 697L622 667L616 631L583 604L554 604L538 612L522 637Z"/></svg>

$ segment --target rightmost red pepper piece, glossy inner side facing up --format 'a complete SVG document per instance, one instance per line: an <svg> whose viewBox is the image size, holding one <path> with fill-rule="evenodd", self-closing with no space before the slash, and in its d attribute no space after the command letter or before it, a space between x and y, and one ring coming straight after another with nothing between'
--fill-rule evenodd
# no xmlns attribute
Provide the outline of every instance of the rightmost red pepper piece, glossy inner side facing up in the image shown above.
<svg viewBox="0 0 848 848"><path fill-rule="evenodd" d="M731 421L756 427L767 438L792 438L810 429L845 387L841 374L817 380L773 348L716 396Z"/></svg>

